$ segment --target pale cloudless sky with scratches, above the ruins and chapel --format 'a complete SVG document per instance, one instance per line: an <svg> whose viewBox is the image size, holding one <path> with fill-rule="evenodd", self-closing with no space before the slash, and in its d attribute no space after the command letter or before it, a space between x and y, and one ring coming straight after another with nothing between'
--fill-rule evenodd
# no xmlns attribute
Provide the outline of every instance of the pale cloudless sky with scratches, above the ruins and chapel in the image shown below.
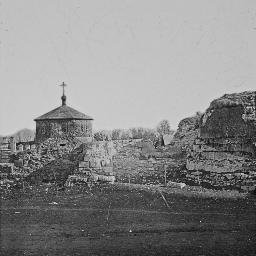
<svg viewBox="0 0 256 256"><path fill-rule="evenodd" d="M67 105L154 128L256 90L254 0L1 0L0 134Z"/></svg>

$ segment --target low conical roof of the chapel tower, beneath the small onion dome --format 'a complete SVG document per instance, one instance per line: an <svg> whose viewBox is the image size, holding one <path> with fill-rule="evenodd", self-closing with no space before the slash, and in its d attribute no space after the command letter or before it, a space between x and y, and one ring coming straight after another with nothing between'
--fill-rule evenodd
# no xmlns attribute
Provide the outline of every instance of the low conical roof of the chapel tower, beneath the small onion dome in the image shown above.
<svg viewBox="0 0 256 256"><path fill-rule="evenodd" d="M93 120L92 117L87 116L75 109L70 108L67 105L62 105L57 109L54 109L44 115L41 115L34 119L34 121L38 120L47 120L47 119L87 119Z"/></svg>

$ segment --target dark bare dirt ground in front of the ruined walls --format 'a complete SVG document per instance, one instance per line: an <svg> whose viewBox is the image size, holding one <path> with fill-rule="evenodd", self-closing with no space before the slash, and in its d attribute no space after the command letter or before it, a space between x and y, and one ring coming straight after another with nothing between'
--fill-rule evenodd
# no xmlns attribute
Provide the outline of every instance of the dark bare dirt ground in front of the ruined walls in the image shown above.
<svg viewBox="0 0 256 256"><path fill-rule="evenodd" d="M124 183L25 192L1 189L1 255L256 255L251 194Z"/></svg>

